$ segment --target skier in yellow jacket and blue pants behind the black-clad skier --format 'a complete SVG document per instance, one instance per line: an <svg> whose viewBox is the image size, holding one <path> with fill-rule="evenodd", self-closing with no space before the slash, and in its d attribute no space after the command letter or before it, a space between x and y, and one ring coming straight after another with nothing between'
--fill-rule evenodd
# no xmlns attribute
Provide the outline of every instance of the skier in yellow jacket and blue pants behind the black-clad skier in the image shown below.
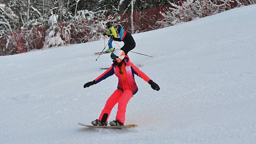
<svg viewBox="0 0 256 144"><path fill-rule="evenodd" d="M111 22L107 22L107 23L106 23L106 26L108 27L108 31L105 32L105 33L103 34L103 36L108 35L109 37L110 37L110 36L117 37L117 35L116 35L116 30L115 30L114 26L111 24ZM115 51L115 48L113 48L113 46L112 46L112 42L113 42L113 39L110 38L110 39L108 40L108 50L107 50L106 52Z"/></svg>

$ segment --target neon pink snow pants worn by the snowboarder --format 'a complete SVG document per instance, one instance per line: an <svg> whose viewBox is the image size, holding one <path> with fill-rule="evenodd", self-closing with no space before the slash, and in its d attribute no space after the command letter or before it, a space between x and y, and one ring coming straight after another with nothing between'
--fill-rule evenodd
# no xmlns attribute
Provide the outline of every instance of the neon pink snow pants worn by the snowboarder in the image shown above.
<svg viewBox="0 0 256 144"><path fill-rule="evenodd" d="M116 113L116 120L119 120L119 122L124 124L125 121L125 111L126 111L126 105L129 102L129 100L132 98L132 90L130 88L130 85L127 80L124 81L124 92L117 89L115 92L112 93L112 95L108 98L104 109L101 111L99 120L101 121L102 116L104 114L108 114L108 117L110 115L110 112L112 108L118 103L117 113ZM108 121L108 118L107 118Z"/></svg>

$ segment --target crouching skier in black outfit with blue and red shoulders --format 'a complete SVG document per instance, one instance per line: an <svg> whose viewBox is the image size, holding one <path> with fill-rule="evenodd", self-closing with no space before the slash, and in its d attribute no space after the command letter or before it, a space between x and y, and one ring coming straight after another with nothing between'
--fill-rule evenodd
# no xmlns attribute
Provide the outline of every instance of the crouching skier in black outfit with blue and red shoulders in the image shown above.
<svg viewBox="0 0 256 144"><path fill-rule="evenodd" d="M131 51L132 49L135 48L136 43L132 37L132 35L127 32L126 30L124 30L124 28L122 28L122 26L120 24L117 24L115 26L116 31L119 33L120 37L114 37L111 36L111 39L113 39L114 41L123 41L124 42L124 46L121 48L121 50L124 51L125 55L127 55L127 53L129 51Z"/></svg>

